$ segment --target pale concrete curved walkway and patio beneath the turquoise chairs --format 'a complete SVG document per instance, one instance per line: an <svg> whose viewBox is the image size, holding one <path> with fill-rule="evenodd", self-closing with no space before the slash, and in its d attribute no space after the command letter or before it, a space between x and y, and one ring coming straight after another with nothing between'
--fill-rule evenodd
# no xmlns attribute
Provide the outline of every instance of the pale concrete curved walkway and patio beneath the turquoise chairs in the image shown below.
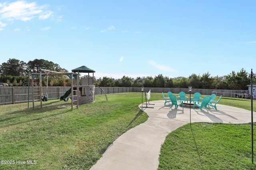
<svg viewBox="0 0 256 170"><path fill-rule="evenodd" d="M104 152L102 158L90 170L157 170L162 143L173 130L190 123L190 109L171 105L164 101L150 101L141 108L149 118L146 122L121 135ZM146 105L143 105L146 106ZM251 111L217 104L217 109L191 109L191 122L249 123ZM253 113L254 122L256 112Z"/></svg>

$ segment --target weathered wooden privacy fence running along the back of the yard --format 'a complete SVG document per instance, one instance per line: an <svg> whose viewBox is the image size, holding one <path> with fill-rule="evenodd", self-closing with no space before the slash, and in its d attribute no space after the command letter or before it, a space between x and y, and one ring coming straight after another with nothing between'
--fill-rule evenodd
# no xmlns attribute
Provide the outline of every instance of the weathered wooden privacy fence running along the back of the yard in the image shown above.
<svg viewBox="0 0 256 170"><path fill-rule="evenodd" d="M60 99L60 96L63 96L66 91L68 91L70 87L64 86L48 86L47 94L48 99ZM125 93L125 92L141 92L141 87L102 87L106 94L114 94L114 93ZM152 93L167 93L172 92L178 94L183 91L186 94L189 94L188 88L147 88L144 87L144 91L148 92L151 90ZM29 95L28 95L29 92ZM94 95L101 95L104 92L96 87L94 91ZM199 92L203 95L211 95L212 93L217 96L231 97L235 98L235 94L245 93L247 94L248 90L216 90L216 89L192 89L191 94L195 92ZM240 93L239 93L240 92ZM46 95L46 87L43 87L43 95ZM39 91L39 86L34 86L34 100L39 101L41 99L41 92ZM32 101L32 87L0 87L0 105L2 104L15 104L20 102L28 102L28 100Z"/></svg>

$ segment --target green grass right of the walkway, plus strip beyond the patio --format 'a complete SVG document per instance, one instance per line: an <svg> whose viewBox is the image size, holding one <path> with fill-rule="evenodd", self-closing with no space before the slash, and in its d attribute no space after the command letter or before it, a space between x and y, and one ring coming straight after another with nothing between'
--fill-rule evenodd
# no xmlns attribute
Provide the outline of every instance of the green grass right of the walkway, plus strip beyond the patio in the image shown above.
<svg viewBox="0 0 256 170"><path fill-rule="evenodd" d="M256 111L255 100L253 103ZM251 109L251 101L244 99L222 98L219 104ZM158 170L256 170L255 154L252 164L251 127L250 123L186 124L166 137Z"/></svg>

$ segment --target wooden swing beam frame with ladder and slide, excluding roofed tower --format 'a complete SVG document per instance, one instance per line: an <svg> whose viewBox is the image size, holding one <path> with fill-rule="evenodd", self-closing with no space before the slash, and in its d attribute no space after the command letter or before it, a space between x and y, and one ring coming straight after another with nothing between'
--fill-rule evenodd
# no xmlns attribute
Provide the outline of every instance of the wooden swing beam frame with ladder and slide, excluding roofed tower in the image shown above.
<svg viewBox="0 0 256 170"><path fill-rule="evenodd" d="M43 72L42 72L43 71ZM41 100L40 100L40 105L41 105L41 108L42 108L42 102L45 102L48 100L48 94L47 94L47 88L48 88L48 76L50 75L66 75L70 78L71 80L71 88L70 90L68 90L63 97L63 100L64 101L68 101L68 96L71 94L71 99L72 99L72 102L71 102L71 109L73 110L73 107L76 107L78 109L78 104L79 104L79 98L78 98L78 92L77 92L77 89L78 89L78 82L79 82L79 74L77 73L73 73L73 72L55 72L55 71L50 71L50 70L41 70L40 73L30 73L29 75L32 76L32 79L34 80L34 78L36 78L36 76L40 76L40 82L39 82L39 91L40 91L40 94L41 94ZM47 76L47 84L46 84L46 94L44 95L42 93L42 78L44 78L45 76ZM28 76L29 79L30 79L30 76ZM74 82L74 79L75 79L75 82ZM30 82L30 80L28 81ZM76 84L76 85L74 85ZM29 84L28 84L28 88L29 88ZM73 89L73 90L71 90ZM73 92L71 92L73 91ZM28 90L28 93L29 93L29 90ZM32 86L32 102L33 102L33 110L35 109L35 104L34 104L34 86ZM69 93L69 94L68 94ZM67 95L68 94L68 95ZM61 98L62 98L61 97ZM28 99L29 101L29 99Z"/></svg>

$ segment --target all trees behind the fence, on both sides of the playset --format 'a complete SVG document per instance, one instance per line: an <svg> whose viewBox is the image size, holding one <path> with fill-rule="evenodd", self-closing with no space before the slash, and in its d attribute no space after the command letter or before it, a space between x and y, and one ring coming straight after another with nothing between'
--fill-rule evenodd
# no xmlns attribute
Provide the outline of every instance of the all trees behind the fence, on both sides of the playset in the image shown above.
<svg viewBox="0 0 256 170"><path fill-rule="evenodd" d="M7 82L13 86L22 86L27 83L28 73L40 73L40 70L51 70L56 72L68 72L58 64L44 59L35 59L33 61L19 61L9 59L6 63L0 65L0 82ZM253 74L253 82L256 82L256 74ZM37 78L39 82L39 78ZM43 85L46 86L70 86L71 81L67 76L49 76L48 82L44 78ZM244 68L240 72L232 71L226 76L212 77L209 72L200 75L191 74L188 78L176 77L169 78L159 74L154 78L152 76L130 78L123 76L121 79L103 77L94 78L94 85L101 87L165 87L165 88L193 88L202 89L228 89L228 90L248 90L251 78Z"/></svg>

